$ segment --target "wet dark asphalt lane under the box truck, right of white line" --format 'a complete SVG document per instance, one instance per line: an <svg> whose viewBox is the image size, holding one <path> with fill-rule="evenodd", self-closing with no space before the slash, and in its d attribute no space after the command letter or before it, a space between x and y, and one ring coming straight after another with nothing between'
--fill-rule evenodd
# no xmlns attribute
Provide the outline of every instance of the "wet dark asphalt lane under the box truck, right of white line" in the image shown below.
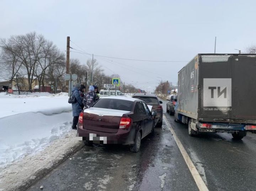
<svg viewBox="0 0 256 191"><path fill-rule="evenodd" d="M227 133L191 137L187 125L165 116L209 190L256 190L256 134L242 140Z"/></svg>

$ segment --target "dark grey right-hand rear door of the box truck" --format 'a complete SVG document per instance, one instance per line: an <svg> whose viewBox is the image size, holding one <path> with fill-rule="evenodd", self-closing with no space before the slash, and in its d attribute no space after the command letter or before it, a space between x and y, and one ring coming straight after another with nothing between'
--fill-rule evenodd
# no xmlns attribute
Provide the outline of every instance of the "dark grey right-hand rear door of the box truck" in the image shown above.
<svg viewBox="0 0 256 191"><path fill-rule="evenodd" d="M256 119L256 56L233 56L230 118Z"/></svg>

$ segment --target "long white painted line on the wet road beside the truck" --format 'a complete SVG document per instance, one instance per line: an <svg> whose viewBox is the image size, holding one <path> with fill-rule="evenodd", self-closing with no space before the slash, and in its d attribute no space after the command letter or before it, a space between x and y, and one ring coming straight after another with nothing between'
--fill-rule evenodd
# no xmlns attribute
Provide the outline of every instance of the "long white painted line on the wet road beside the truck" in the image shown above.
<svg viewBox="0 0 256 191"><path fill-rule="evenodd" d="M198 189L200 191L208 191L206 184L204 183L202 177L200 176L196 167L194 166L193 162L191 161L190 157L188 156L188 153L186 152L185 148L183 147L180 140L178 139L174 129L172 129L171 124L168 122L168 120L166 119L165 116L163 116L163 120L165 121L166 125L168 124L167 126L169 126L169 129L170 129L172 135L174 136L176 144L178 145L178 148L180 149L180 152L181 152L185 162L187 163L188 169L190 169L190 172L194 178L194 181L197 184Z"/></svg>

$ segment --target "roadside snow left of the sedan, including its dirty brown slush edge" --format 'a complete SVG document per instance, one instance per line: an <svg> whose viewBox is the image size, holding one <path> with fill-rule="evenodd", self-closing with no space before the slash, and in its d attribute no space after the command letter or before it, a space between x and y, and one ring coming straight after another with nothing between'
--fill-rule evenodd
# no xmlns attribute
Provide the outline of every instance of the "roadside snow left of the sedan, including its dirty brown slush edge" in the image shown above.
<svg viewBox="0 0 256 191"><path fill-rule="evenodd" d="M81 146L67 93L0 93L0 106L0 191L17 190Z"/></svg>

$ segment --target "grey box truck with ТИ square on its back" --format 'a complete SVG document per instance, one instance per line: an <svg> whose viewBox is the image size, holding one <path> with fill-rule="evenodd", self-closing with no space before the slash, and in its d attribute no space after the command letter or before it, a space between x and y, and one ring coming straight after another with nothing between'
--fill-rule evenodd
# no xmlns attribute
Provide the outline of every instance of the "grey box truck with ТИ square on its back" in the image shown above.
<svg viewBox="0 0 256 191"><path fill-rule="evenodd" d="M177 104L178 103L178 104ZM178 72L175 121L188 134L256 130L256 55L198 54Z"/></svg>

